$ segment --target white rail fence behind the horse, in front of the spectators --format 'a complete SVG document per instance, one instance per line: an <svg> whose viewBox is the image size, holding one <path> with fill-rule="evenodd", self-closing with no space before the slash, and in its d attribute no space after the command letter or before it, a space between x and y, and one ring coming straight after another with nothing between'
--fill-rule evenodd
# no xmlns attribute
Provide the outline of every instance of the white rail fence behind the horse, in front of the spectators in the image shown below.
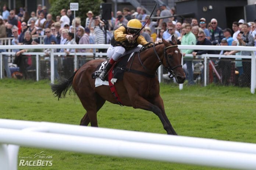
<svg viewBox="0 0 256 170"><path fill-rule="evenodd" d="M26 49L28 45L0 45L0 49ZM53 52L53 49L60 49L60 48L76 48L76 49L86 49L86 48L97 48L97 49L107 49L109 48L109 44L78 44L78 45L29 45L30 49L51 49L50 53L50 61L51 61L51 83L54 83L54 55L64 55L64 53L56 53ZM201 55L202 58L205 60L205 68L206 67L206 60L207 58L242 58L242 59L251 59L251 86L250 92L255 93L256 88L256 60L254 51L256 51L256 47L245 47L245 46L213 46L213 45L179 45L179 49L196 49L196 50L237 50L237 51L250 51L251 56L225 56L225 55ZM37 80L38 80L38 56L43 55L44 53L24 53L24 54L33 54L37 57ZM2 58L3 55L14 55L12 52L2 52L0 53L0 78L2 78ZM94 55L93 53L70 53L70 55L74 55L74 68L77 69L77 55ZM104 56L106 53L96 53L96 56ZM187 55L189 56L189 55ZM183 58L182 58L183 63ZM158 75L159 75L159 82L161 82L161 74L162 74L162 67L159 67ZM205 69L205 80L206 80L206 69ZM206 86L206 81L205 81ZM179 85L179 89L183 88L183 84Z"/></svg>

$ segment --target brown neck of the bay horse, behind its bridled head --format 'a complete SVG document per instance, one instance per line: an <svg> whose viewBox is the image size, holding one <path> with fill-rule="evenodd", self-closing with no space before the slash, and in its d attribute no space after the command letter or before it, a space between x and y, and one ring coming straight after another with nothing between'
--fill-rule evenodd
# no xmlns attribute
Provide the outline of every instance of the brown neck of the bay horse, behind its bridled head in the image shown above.
<svg viewBox="0 0 256 170"><path fill-rule="evenodd" d="M156 47L157 55L160 57L161 61L163 61L163 49L164 44L157 45ZM147 51L141 53L141 60L144 66L146 66L152 73L154 73L157 68L161 65L159 59L154 52L154 47L151 47Z"/></svg>

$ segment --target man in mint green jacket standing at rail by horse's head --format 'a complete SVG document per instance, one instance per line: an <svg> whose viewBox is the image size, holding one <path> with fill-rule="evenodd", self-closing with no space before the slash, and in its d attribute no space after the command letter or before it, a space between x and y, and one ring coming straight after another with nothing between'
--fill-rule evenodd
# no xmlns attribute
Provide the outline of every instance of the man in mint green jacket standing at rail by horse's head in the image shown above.
<svg viewBox="0 0 256 170"><path fill-rule="evenodd" d="M191 25L186 25L186 34L182 37L181 40L181 45L196 45L196 37L195 35L191 32ZM187 71L186 71L186 76L188 77L188 84L192 85L194 84L193 81L193 68L192 68L192 58L193 57L188 57L186 54L190 54L193 52L191 49L182 49L182 55L184 57Z"/></svg>

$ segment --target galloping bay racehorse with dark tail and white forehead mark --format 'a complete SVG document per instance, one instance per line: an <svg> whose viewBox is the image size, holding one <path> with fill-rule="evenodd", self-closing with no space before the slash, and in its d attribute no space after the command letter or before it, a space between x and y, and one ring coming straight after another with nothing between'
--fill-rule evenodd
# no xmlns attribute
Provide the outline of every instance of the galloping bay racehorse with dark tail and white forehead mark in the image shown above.
<svg viewBox="0 0 256 170"><path fill-rule="evenodd" d="M176 81L183 83L186 76L181 65L181 53L178 49L177 42L173 36L170 42L162 38L162 44L153 44L153 47L136 53L131 64L131 70L137 70L141 73L156 75L157 68L163 64L163 68L170 72ZM95 79L91 75L96 71L97 66L104 62L104 59L90 60L80 69L75 71L74 75L68 79L59 80L58 84L52 84L51 89L58 99L64 98L68 89L73 89L80 99L83 108L87 111L81 119L80 125L98 126L97 111L103 106L105 101L118 104L109 86L101 85L95 87ZM122 104L133 108L152 111L156 114L167 134L177 135L164 111L164 103L159 95L159 81L142 74L136 74L126 71L123 80L115 83Z"/></svg>

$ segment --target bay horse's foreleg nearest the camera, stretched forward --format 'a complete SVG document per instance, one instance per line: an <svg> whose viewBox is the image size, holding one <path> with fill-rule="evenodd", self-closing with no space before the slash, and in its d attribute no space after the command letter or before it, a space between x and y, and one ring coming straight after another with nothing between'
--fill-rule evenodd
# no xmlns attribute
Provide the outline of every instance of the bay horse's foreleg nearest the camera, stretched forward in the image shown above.
<svg viewBox="0 0 256 170"><path fill-rule="evenodd" d="M159 106L156 106L156 105L150 103L149 101L147 101L146 99L144 99L143 97L138 96L138 95L132 97L131 101L132 101L132 107L152 111L154 114L156 114L159 117L160 121L162 122L167 134L176 134L174 129L171 129L171 127L170 127L171 123L169 121L167 122L166 118L164 118L164 116L162 114L162 110L161 110L161 108L159 108Z"/></svg>

